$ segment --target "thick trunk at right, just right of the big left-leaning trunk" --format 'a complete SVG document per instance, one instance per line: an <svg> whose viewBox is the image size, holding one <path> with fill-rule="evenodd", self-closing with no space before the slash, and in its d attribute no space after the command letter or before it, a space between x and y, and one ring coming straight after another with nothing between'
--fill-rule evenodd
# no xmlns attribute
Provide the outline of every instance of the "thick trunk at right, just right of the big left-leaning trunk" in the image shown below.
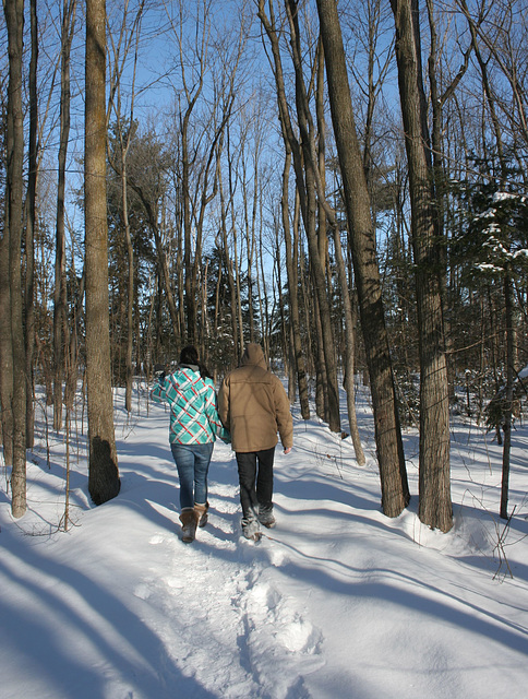
<svg viewBox="0 0 528 699"><path fill-rule="evenodd" d="M409 166L412 249L420 347L420 520L453 526L449 485L449 396L442 319L442 276L434 179L421 79L418 0L391 0Z"/></svg>

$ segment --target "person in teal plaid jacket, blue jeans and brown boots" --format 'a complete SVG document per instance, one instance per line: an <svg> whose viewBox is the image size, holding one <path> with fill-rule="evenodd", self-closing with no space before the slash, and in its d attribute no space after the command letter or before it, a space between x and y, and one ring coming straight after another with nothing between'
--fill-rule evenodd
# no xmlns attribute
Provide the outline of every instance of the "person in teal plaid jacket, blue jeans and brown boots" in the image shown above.
<svg viewBox="0 0 528 699"><path fill-rule="evenodd" d="M180 481L182 541L194 541L196 526L207 523L207 473L217 437L229 442L218 417L215 384L192 345L180 354L173 374L161 375L151 391L170 406L169 442Z"/></svg>

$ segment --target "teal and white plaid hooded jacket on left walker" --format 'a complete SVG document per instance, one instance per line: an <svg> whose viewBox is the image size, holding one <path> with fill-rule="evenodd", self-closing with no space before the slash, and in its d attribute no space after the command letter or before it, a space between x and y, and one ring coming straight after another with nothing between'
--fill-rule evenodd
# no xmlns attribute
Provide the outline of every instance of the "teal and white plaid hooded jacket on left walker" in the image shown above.
<svg viewBox="0 0 528 699"><path fill-rule="evenodd" d="M177 369L154 387L151 396L170 405L170 443L205 445L217 437L229 441L229 433L218 417L215 386L211 379L202 379L199 371Z"/></svg>

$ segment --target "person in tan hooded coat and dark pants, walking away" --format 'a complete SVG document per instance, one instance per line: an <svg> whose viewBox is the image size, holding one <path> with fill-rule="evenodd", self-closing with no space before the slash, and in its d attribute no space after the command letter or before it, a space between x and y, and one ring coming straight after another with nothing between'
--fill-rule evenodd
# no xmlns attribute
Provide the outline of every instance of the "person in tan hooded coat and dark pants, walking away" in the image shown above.
<svg viewBox="0 0 528 699"><path fill-rule="evenodd" d="M269 371L262 347L247 345L240 367L226 376L218 392L218 415L231 435L237 457L247 538L260 536L259 522L275 526L273 462L280 435L285 453L293 446L290 404L280 380Z"/></svg>

